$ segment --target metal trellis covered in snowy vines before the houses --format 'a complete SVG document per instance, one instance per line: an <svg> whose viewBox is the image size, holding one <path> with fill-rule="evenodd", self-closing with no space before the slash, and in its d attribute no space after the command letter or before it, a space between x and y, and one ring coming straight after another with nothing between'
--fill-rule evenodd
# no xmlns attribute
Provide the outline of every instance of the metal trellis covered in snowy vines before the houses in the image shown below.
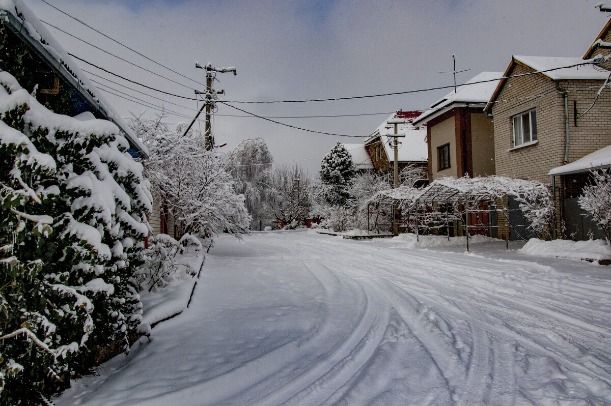
<svg viewBox="0 0 611 406"><path fill-rule="evenodd" d="M395 189L389 197L401 202L408 229L417 234L448 237L452 231L463 234L467 249L470 235L508 239L509 230L516 227L527 227L538 237L552 236L552 195L549 187L538 181L506 176L447 177L433 181L425 189ZM518 208L508 205L509 198L518 202ZM510 216L512 211L522 216ZM525 222L516 223L515 217Z"/></svg>

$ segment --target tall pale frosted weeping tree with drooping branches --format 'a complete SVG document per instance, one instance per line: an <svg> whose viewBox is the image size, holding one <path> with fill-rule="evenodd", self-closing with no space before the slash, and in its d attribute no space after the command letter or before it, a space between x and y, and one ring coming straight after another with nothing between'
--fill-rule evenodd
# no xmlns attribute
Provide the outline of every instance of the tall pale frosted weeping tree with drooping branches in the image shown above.
<svg viewBox="0 0 611 406"><path fill-rule="evenodd" d="M274 162L262 138L243 140L231 153L231 173L236 192L246 199L251 214L251 229L262 230L271 200L271 165Z"/></svg>

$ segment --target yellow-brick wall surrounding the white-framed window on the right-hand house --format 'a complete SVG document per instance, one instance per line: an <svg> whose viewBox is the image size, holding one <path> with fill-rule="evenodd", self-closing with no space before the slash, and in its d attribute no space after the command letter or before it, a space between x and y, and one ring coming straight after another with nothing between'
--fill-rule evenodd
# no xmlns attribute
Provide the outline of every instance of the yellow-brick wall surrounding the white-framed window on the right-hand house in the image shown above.
<svg viewBox="0 0 611 406"><path fill-rule="evenodd" d="M527 68L517 65L512 74L527 72ZM578 114L583 114L595 100L602 81L572 80L559 84L569 90L568 162L610 145L611 90L603 90L593 109L574 126L573 101L577 101ZM538 143L513 149L512 117L530 109L536 109ZM566 145L565 104L557 84L541 75L510 78L492 106L492 114L497 175L551 183L547 172L563 164Z"/></svg>

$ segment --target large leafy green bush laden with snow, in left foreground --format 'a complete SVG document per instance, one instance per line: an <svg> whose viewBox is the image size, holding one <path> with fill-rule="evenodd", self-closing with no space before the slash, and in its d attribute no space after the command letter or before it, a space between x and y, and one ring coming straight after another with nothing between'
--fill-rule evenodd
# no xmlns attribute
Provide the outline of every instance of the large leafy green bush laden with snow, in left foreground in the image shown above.
<svg viewBox="0 0 611 406"><path fill-rule="evenodd" d="M117 126L54 114L0 73L0 390L37 404L141 323L150 193Z"/></svg>

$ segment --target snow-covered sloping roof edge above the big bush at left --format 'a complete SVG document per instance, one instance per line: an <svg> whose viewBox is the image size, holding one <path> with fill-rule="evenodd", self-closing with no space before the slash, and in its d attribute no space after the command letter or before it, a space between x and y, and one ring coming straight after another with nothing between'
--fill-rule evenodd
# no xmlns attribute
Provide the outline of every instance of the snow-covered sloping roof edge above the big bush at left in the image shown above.
<svg viewBox="0 0 611 406"><path fill-rule="evenodd" d="M81 68L68 55L65 49L46 29L44 24L23 0L0 0L0 18L20 37L35 54L48 62L49 67L62 76L74 89L91 104L101 115L112 121L130 144L139 150L142 158L148 158L148 150L136 134L125 123L123 117L100 95L100 90L93 84Z"/></svg>

